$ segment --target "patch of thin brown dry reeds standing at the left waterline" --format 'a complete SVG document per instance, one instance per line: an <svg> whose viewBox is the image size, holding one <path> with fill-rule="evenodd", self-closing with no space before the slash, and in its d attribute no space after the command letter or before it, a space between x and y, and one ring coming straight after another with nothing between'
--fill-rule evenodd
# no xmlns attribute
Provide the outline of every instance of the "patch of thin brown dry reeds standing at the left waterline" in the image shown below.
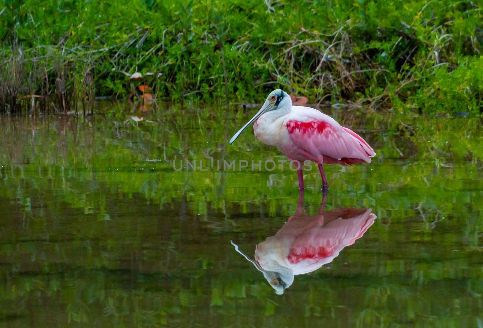
<svg viewBox="0 0 483 328"><path fill-rule="evenodd" d="M41 61L26 58L25 50L15 47L1 54L1 113L77 114L79 101L83 112L93 108L95 94L91 65L78 71L76 62L60 56Z"/></svg>

